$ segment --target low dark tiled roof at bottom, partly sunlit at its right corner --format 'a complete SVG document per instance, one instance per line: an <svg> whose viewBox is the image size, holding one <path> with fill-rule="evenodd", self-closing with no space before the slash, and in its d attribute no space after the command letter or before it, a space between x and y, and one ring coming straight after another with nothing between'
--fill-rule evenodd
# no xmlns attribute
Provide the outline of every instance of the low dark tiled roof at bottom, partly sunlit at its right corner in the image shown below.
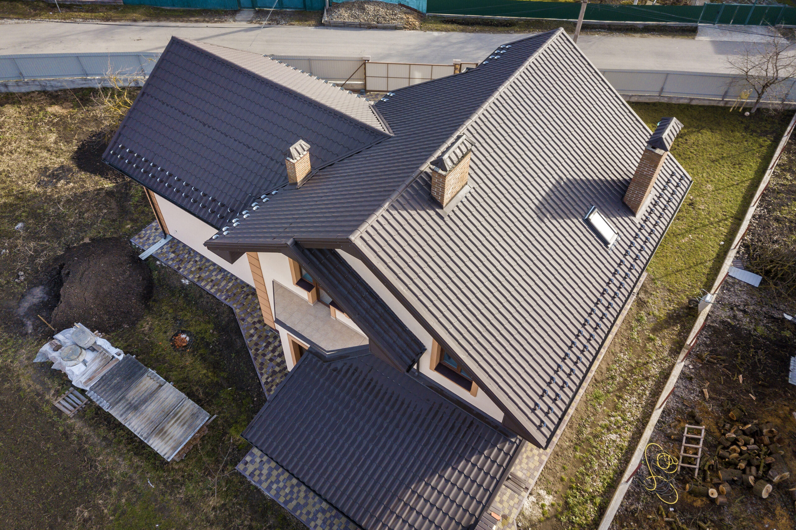
<svg viewBox="0 0 796 530"><path fill-rule="evenodd" d="M305 354L243 436L365 530L470 527L521 442L370 354Z"/></svg>

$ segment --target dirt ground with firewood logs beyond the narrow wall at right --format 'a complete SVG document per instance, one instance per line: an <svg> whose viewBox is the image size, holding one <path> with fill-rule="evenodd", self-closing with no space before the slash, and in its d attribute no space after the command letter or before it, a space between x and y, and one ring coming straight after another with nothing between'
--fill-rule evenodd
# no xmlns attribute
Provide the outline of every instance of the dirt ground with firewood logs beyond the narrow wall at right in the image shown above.
<svg viewBox="0 0 796 530"><path fill-rule="evenodd" d="M796 487L796 477L775 483L770 473L778 465L778 453L790 472L796 472L796 387L788 382L796 325L783 317L796 313L794 200L796 144L791 140L734 262L763 275L763 281L758 288L733 277L724 280L650 439L662 451L678 455L685 424L704 425L698 476L693 470L675 475L677 493L669 490L657 497L646 490L651 482L645 464L612 528L794 528L796 510L789 490ZM739 445L728 433L752 439L741 439ZM648 448L650 462L658 452ZM742 486L743 477L727 482L731 491L726 505L685 493L686 486L718 489L728 470L770 483L770 495L758 497L751 483Z"/></svg>

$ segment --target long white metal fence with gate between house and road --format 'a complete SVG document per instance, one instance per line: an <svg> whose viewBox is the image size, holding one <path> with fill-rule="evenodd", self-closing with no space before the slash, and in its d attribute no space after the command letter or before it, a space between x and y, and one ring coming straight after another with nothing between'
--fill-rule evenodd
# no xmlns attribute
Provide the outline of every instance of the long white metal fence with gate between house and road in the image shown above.
<svg viewBox="0 0 796 530"><path fill-rule="evenodd" d="M149 75L159 53L57 53L0 56L0 91L96 87L107 72ZM271 56L294 68L351 90L392 91L462 72L476 63L410 64L370 62L364 57ZM736 75L702 72L603 69L626 99L697 104L732 104L747 83ZM754 91L749 96L755 99ZM796 80L782 83L764 101L796 103Z"/></svg>

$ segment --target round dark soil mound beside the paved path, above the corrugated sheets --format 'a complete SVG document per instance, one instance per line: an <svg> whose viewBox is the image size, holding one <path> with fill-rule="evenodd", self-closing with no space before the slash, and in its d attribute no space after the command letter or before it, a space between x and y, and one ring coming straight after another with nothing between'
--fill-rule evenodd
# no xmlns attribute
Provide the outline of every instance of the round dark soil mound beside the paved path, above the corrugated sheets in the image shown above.
<svg viewBox="0 0 796 530"><path fill-rule="evenodd" d="M134 325L152 296L152 273L129 242L98 239L56 258L60 300L53 310L57 330L80 322L103 333Z"/></svg>

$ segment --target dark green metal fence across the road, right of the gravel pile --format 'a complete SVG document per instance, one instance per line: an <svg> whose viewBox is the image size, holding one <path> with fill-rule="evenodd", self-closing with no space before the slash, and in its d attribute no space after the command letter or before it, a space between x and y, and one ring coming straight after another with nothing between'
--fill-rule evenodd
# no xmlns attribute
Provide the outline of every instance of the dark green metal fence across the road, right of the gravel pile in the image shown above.
<svg viewBox="0 0 796 530"><path fill-rule="evenodd" d="M574 20L580 2L533 2L533 0L428 0L433 14L482 17L529 17ZM751 4L704 4L704 6L614 6L590 3L584 18L603 22L679 22L687 24L796 25L796 8Z"/></svg>

